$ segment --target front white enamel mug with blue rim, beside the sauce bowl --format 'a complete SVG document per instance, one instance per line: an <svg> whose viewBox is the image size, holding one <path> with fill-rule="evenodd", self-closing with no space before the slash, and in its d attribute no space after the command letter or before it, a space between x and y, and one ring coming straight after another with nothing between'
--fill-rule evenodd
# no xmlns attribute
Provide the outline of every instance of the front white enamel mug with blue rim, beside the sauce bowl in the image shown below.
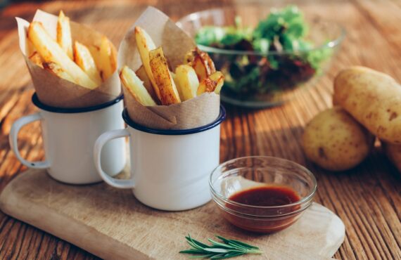
<svg viewBox="0 0 401 260"><path fill-rule="evenodd" d="M219 165L220 124L226 112L211 124L186 130L157 130L133 122L124 110L126 129L102 134L94 146L96 169L115 188L132 188L135 197L155 209L179 211L210 201L208 178ZM129 136L131 176L127 180L106 174L103 145Z"/></svg>

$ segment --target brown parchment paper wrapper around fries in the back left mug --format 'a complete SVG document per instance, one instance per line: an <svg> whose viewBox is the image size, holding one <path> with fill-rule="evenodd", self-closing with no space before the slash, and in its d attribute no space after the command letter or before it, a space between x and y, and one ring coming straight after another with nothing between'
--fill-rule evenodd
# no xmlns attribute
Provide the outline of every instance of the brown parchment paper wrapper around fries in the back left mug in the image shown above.
<svg viewBox="0 0 401 260"><path fill-rule="evenodd" d="M42 22L47 32L51 34L51 37L56 39L57 18L56 15L38 10L33 20ZM22 18L16 19L18 23L20 50L30 71L34 89L42 103L56 108L87 108L106 103L120 95L121 85L117 70L106 82L103 82L96 89L90 90L68 80L61 79L32 63L27 57L29 55L27 53L27 29L30 23ZM72 42L77 40L87 46L100 46L103 34L77 22L70 22L70 26Z"/></svg>

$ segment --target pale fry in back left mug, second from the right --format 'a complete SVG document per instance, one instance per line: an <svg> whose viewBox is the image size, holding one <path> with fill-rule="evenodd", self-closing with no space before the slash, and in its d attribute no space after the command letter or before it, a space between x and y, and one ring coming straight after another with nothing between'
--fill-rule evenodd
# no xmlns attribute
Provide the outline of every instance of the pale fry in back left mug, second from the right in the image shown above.
<svg viewBox="0 0 401 260"><path fill-rule="evenodd" d="M89 49L78 41L75 41L74 44L74 61L94 82L96 82L96 84L101 84L102 79L94 58L92 58Z"/></svg>

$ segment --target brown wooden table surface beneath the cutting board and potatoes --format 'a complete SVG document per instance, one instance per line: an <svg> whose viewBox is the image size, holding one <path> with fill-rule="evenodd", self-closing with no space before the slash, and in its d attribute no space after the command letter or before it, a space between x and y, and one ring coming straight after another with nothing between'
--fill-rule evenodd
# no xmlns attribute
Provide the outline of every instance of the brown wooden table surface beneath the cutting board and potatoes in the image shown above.
<svg viewBox="0 0 401 260"><path fill-rule="evenodd" d="M30 75L18 48L15 16L31 20L37 8L50 13L63 8L72 20L104 32L117 45L147 5L156 6L177 20L187 13L231 2L51 1L22 2L4 8L0 14L0 190L25 170L8 145L11 124L36 110L30 101L33 93ZM401 1L302 1L300 6L307 13L335 20L345 27L348 37L340 54L317 86L286 105L269 110L227 106L228 118L222 124L221 160L273 155L305 165L317 176L319 188L315 200L333 210L345 223L347 236L335 254L337 259L401 259L401 174L386 160L381 149L376 147L356 169L330 173L308 162L300 148L305 124L331 106L332 81L340 69L365 65L391 74L401 82ZM29 160L44 157L38 123L21 132L20 151ZM96 259L96 256L0 212L0 259Z"/></svg>

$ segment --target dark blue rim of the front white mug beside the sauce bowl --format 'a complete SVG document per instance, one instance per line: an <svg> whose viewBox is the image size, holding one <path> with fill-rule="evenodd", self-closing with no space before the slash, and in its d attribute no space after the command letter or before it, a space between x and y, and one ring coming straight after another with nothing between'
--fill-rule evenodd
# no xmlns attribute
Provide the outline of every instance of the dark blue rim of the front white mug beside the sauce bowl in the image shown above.
<svg viewBox="0 0 401 260"><path fill-rule="evenodd" d="M215 121L211 122L210 124L205 124L204 126L199 126L191 129L154 129L151 127L143 126L132 121L132 119L128 115L127 108L124 108L124 110L122 111L122 119L124 119L125 123L132 128L149 134L160 134L164 136L182 136L186 134L200 133L212 129L215 126L218 126L224 121L224 119L226 119L226 109L222 105L220 105L220 113Z"/></svg>

